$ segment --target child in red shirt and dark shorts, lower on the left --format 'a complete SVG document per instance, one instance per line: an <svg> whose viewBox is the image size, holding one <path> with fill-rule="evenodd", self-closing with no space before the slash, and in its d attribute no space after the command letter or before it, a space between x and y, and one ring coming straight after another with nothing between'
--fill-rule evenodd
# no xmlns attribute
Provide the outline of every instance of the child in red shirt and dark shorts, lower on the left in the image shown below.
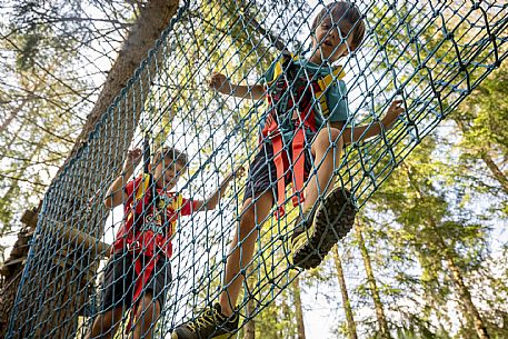
<svg viewBox="0 0 508 339"><path fill-rule="evenodd" d="M87 338L113 338L129 309L132 311L128 329L135 325L132 337L152 338L171 282L171 237L178 218L215 209L233 179L233 173L226 177L207 200L186 199L173 188L188 164L187 156L173 148L162 148L153 154L149 172L123 185L141 158L141 149L128 152L122 175L110 186L104 199L108 208L123 203L124 219L106 266L101 310Z"/></svg>

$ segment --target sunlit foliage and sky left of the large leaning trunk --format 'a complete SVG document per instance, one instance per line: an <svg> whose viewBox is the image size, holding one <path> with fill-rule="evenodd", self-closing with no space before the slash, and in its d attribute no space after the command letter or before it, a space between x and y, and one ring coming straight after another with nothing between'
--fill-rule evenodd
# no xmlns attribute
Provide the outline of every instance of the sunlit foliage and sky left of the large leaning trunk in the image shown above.
<svg viewBox="0 0 508 339"><path fill-rule="evenodd" d="M132 11L118 2L21 0L4 4L0 232L19 228L22 212L39 205L106 78L111 61L104 56L119 47L118 38ZM91 16L98 7L102 14Z"/></svg>

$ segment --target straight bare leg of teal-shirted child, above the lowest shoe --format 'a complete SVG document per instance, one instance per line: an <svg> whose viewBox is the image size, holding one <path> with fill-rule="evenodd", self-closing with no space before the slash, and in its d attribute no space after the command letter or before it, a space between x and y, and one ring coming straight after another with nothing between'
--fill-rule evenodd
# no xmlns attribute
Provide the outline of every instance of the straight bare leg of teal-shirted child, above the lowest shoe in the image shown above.
<svg viewBox="0 0 508 339"><path fill-rule="evenodd" d="M260 225L270 213L273 203L271 191L262 193L256 202L247 199L241 210L240 225L235 232L231 242L231 252L226 261L225 290L220 295L221 311L231 316L241 290L243 276L241 269L252 260L258 231L253 231L256 225Z"/></svg>

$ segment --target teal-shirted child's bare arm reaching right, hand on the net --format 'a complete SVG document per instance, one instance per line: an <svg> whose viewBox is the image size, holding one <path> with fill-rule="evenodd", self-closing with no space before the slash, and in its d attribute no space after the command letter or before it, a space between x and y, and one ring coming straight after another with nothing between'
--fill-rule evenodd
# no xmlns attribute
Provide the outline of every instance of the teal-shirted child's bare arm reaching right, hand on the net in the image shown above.
<svg viewBox="0 0 508 339"><path fill-rule="evenodd" d="M388 112L385 118L381 119L379 123L365 124L355 127L351 133L351 128L348 127L342 132L342 140L345 144L357 142L360 140L367 140L369 138L379 136L381 133L381 124L385 129L389 129L391 124L397 120L397 118L405 112L404 107L400 104L402 100L395 100L391 102L388 108ZM331 122L331 127L341 130L343 128L343 122ZM365 133L365 134L363 134Z"/></svg>

